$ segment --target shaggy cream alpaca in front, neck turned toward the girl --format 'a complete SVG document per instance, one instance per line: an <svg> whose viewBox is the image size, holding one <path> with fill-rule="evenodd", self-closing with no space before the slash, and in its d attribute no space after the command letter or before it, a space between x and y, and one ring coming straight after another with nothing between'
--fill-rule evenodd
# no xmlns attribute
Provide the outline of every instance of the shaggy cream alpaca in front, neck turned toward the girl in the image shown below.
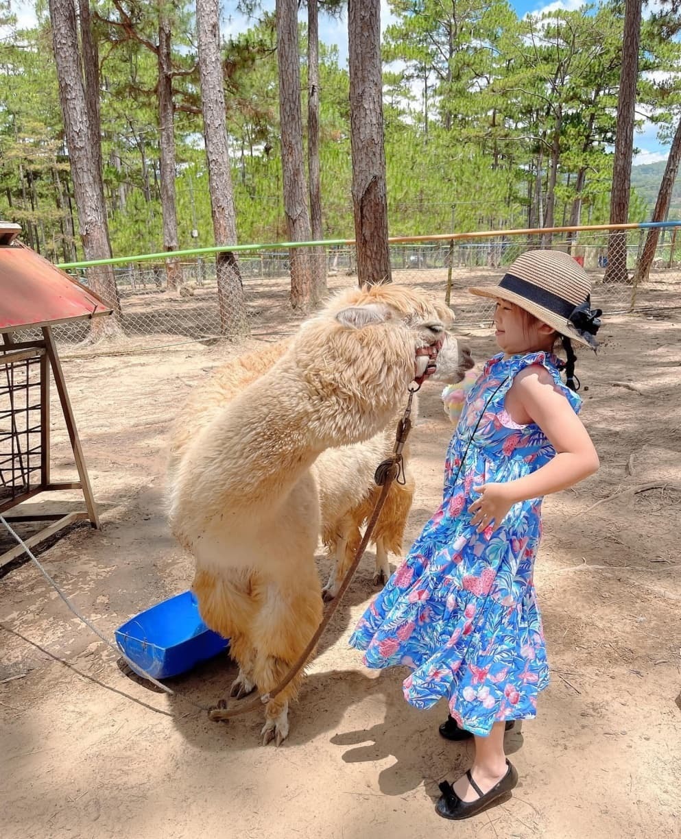
<svg viewBox="0 0 681 839"><path fill-rule="evenodd" d="M424 371L427 357L416 350L437 345L451 320L419 289L338 294L175 462L170 527L194 556L203 620L230 638L239 665L233 694L272 690L321 622L312 464L385 428ZM265 706L264 743L288 735L300 682L301 673Z"/></svg>

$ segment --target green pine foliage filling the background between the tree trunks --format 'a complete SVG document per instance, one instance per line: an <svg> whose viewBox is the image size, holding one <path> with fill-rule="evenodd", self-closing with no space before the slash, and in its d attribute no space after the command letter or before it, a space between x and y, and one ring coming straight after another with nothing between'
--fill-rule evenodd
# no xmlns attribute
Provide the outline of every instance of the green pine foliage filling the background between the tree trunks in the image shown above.
<svg viewBox="0 0 681 839"><path fill-rule="evenodd" d="M93 4L101 67L102 159L113 253L162 247L159 184L158 5ZM331 11L338 3L322 4ZM621 3L519 19L507 0L392 0L383 44L386 178L391 235L526 227L539 217L567 223L579 198L582 223L608 221ZM212 245L202 148L192 7L172 17L176 209L179 246ZM49 21L11 30L0 0L0 216L19 221L50 258L81 253L65 156ZM670 70L678 20L645 24L639 99L673 132L681 89ZM305 32L301 86L306 114ZM223 70L239 242L285 239L275 26L261 14L223 44ZM656 72L657 71L657 72ZM338 50L320 45L324 234L354 237L348 73ZM630 218L650 215L663 164L635 167ZM553 171L553 180L550 176ZM579 188L579 194L578 194ZM61 196L60 196L61 190ZM670 217L681 216L681 194ZM74 221L71 222L71 218ZM75 237L71 223L76 225ZM197 236L192 236L196 231Z"/></svg>

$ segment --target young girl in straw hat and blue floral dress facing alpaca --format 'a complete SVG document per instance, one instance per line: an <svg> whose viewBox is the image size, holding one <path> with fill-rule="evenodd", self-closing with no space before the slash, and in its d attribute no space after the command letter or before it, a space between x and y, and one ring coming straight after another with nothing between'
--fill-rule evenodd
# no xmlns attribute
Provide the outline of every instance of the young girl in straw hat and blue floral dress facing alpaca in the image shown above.
<svg viewBox="0 0 681 839"><path fill-rule="evenodd" d="M411 705L448 698L443 737L474 737L471 769L440 784L444 818L474 816L516 786L504 731L536 716L548 684L532 576L542 496L598 468L574 393L572 341L595 350L600 326L590 290L584 269L558 251L525 253L497 286L469 289L497 301L501 352L464 404L442 506L350 638L368 667L411 668L403 683ZM558 340L567 363L553 354Z"/></svg>

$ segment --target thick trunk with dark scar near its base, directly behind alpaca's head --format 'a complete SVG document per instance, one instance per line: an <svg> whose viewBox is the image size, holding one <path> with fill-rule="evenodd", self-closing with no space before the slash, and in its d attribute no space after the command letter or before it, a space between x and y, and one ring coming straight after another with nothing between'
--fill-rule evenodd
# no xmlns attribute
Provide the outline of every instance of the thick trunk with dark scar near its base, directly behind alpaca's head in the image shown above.
<svg viewBox="0 0 681 839"><path fill-rule="evenodd" d="M350 145L359 284L390 283L380 0L348 0Z"/></svg>

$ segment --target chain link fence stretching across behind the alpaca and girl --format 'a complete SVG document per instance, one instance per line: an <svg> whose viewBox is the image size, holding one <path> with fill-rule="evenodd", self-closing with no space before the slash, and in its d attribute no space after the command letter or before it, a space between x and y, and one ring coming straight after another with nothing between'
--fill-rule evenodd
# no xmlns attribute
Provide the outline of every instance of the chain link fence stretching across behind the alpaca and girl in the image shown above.
<svg viewBox="0 0 681 839"><path fill-rule="evenodd" d="M571 253L591 275L592 302L605 315L670 305L673 289L681 279L681 236L677 242L677 231L677 227L660 231L652 267L641 279L636 277L636 267L648 229L614 234L594 228L553 234L499 231L394 242L390 245L392 279L396 283L420 285L448 300L459 326L481 326L489 324L493 305L468 294L467 287L494 284L526 250L556 248ZM306 250L312 252L312 248ZM327 244L318 250L323 253L329 291L357 283L353 245ZM614 262L620 266L617 275L609 271ZM85 267L70 273L88 285L91 271ZM226 310L225 300L230 298L225 297L224 277L218 277L213 257L183 256L172 263L131 259L113 266L120 303L116 340L93 345L91 326L82 321L55 326L55 340L66 357L92 352L136 352L188 341L212 343L223 340L226 320L233 316L248 321L254 336L271 334L281 320L278 314L289 309L291 251L285 247L241 251L238 273L244 286L243 313Z"/></svg>

